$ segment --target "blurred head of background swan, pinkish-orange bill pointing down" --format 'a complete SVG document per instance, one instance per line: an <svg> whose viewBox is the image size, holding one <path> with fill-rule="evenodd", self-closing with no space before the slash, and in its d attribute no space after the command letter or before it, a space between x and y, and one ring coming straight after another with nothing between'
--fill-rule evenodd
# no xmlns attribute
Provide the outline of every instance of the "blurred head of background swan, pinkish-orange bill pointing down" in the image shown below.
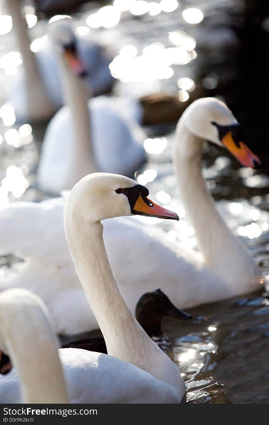
<svg viewBox="0 0 269 425"><path fill-rule="evenodd" d="M56 53L64 60L68 68L75 75L85 77L87 75L87 69L79 57L76 36L66 21L66 19L60 20L49 25L50 40L54 45Z"/></svg>

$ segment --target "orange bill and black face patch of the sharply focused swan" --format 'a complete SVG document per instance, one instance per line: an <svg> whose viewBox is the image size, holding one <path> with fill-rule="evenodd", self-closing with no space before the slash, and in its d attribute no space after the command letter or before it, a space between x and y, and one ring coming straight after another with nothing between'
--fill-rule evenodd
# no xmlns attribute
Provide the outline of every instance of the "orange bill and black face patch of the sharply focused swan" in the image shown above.
<svg viewBox="0 0 269 425"><path fill-rule="evenodd" d="M147 198L149 191L141 184L125 187L124 189L117 189L116 193L124 193L124 195L127 196L131 212L134 215L147 215L148 217L179 220L176 212L160 207L160 205L155 204Z"/></svg>

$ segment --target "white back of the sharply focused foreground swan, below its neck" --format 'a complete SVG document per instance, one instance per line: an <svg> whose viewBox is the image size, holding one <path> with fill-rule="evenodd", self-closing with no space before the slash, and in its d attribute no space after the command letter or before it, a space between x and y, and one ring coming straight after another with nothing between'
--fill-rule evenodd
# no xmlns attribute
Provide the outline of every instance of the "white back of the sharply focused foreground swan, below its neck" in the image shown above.
<svg viewBox="0 0 269 425"><path fill-rule="evenodd" d="M71 403L178 402L176 391L165 382L108 354L60 348L59 358ZM117 391L113 391L111 382L116 383ZM108 388L111 388L109 394ZM0 375L0 400L4 404L22 402L16 368L7 375Z"/></svg>

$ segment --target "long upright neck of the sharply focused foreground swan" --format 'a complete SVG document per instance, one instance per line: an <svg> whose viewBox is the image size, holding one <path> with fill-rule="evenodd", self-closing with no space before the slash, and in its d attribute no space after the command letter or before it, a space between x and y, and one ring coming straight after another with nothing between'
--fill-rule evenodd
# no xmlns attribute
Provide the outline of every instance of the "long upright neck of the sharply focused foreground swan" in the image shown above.
<svg viewBox="0 0 269 425"><path fill-rule="evenodd" d="M65 232L76 272L104 335L108 354L178 389L182 385L178 368L153 343L122 297L105 250L102 223L85 223L74 207L65 214Z"/></svg>

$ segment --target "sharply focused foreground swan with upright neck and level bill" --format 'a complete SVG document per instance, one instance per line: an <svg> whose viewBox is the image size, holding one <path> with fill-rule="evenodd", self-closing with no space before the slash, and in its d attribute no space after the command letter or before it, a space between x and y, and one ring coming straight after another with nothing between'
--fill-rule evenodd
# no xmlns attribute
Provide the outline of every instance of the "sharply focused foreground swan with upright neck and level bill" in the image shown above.
<svg viewBox="0 0 269 425"><path fill-rule="evenodd" d="M142 214L178 219L147 195L145 187L127 177L94 173L79 181L68 197L64 214L68 245L109 354L60 350L71 400L73 387L80 390L76 402L179 403L184 397L177 366L128 309L102 238L101 218Z"/></svg>

